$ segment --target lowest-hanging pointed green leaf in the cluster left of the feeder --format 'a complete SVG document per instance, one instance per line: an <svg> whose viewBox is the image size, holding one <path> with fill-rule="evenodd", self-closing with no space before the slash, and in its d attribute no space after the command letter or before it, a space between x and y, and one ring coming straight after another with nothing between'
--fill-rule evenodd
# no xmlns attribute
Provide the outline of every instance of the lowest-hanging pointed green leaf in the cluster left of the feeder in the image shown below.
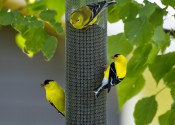
<svg viewBox="0 0 175 125"><path fill-rule="evenodd" d="M53 57L56 48L57 48L57 39L53 36L48 35L46 40L44 41L44 45L42 48L42 52L46 57L47 61L50 61L50 59Z"/></svg>

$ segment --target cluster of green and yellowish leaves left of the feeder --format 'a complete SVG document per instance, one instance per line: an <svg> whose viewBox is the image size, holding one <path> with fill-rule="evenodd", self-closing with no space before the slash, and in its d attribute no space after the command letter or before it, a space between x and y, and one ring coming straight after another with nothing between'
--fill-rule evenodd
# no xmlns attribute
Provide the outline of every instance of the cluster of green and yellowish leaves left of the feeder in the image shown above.
<svg viewBox="0 0 175 125"><path fill-rule="evenodd" d="M28 1L25 6L18 9L10 8L10 6L8 8L3 2L1 4L4 6L0 8L0 25L10 25L19 33L16 43L20 49L29 57L33 57L34 54L41 51L49 61L63 34L61 16L64 13L64 0L60 1L58 5L61 6L60 9L58 9L58 3L53 0L51 2L39 0L34 3ZM12 3L9 1L8 4ZM16 5L20 4L16 3ZM15 2L13 6L15 6ZM57 11L59 12L57 13Z"/></svg>

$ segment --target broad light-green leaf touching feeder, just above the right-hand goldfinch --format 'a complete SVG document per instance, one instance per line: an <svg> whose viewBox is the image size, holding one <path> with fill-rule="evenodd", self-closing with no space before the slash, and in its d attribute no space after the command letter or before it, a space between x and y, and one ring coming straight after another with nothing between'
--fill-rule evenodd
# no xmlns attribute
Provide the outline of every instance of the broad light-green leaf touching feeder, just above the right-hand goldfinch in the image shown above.
<svg viewBox="0 0 175 125"><path fill-rule="evenodd" d="M124 33L108 37L108 61L116 53L128 55L132 51L132 45L126 39Z"/></svg>

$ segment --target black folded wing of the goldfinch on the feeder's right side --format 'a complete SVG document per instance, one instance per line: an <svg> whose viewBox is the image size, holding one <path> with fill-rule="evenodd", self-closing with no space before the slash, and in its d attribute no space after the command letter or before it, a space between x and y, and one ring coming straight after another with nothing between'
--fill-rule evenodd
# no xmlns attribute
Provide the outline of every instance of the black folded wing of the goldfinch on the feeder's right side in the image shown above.
<svg viewBox="0 0 175 125"><path fill-rule="evenodd" d="M120 80L117 77L117 71L115 69L115 63L111 63L109 70L109 82L108 82L108 92L111 90L111 87L118 84Z"/></svg>

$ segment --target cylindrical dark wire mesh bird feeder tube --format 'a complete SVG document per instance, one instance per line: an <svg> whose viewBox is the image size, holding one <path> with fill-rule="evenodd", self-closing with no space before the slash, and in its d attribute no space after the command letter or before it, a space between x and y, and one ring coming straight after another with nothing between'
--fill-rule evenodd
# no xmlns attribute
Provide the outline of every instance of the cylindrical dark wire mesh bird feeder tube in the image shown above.
<svg viewBox="0 0 175 125"><path fill-rule="evenodd" d="M86 30L71 26L73 10L97 0L66 0L66 125L106 125L106 94L93 90L101 84L106 65L106 10L98 24Z"/></svg>

